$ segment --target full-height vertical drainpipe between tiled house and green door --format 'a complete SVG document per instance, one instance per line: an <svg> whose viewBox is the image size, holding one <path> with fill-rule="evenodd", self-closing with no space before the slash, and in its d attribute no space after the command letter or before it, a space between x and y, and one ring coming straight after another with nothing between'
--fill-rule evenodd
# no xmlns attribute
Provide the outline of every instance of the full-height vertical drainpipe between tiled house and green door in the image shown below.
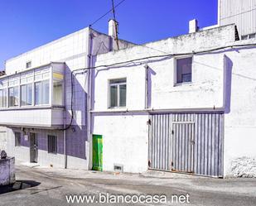
<svg viewBox="0 0 256 206"><path fill-rule="evenodd" d="M87 55L87 67L90 68L92 66L92 52L93 52L93 35L90 32L89 29L89 41L88 41L88 55ZM86 111L86 116L87 116L87 141L89 142L89 145L86 146L86 150L89 150L86 152L86 160L88 161L88 170L91 169L92 167L92 137L91 137L91 70L88 69L87 75L87 109Z"/></svg>

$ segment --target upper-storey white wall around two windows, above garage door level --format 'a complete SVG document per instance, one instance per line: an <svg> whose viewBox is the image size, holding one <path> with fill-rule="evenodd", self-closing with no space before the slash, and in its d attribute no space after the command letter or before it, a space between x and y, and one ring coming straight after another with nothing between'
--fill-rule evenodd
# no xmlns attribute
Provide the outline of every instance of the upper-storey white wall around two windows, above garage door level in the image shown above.
<svg viewBox="0 0 256 206"><path fill-rule="evenodd" d="M213 43L213 40L215 42ZM234 41L234 26L224 26L199 31L145 46L98 55L96 66L144 58L151 55L184 54L225 46ZM153 48L150 49L148 47ZM160 53L160 54L159 54ZM165 54L167 54L165 53ZM186 55L185 55L186 56ZM223 104L224 54L193 55L192 83L175 86L175 58L154 58L118 65L114 69L99 68L95 71L95 111L108 109L108 80L127 78L128 110L144 108L145 69L148 65L152 79L152 107L162 108L220 108ZM182 101L181 101L182 100Z"/></svg>

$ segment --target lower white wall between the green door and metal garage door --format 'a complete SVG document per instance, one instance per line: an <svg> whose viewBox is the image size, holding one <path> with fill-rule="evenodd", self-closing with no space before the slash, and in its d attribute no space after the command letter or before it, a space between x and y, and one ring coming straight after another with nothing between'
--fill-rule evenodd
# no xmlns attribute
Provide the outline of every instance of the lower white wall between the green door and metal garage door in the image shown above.
<svg viewBox="0 0 256 206"><path fill-rule="evenodd" d="M147 170L147 115L94 117L94 134L103 135L103 170L113 171L114 164L124 172Z"/></svg>

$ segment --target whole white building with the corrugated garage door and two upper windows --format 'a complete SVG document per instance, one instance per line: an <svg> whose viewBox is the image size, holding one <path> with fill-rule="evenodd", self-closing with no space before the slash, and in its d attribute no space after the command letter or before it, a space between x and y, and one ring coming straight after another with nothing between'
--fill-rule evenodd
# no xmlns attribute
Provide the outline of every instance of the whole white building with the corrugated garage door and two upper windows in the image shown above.
<svg viewBox="0 0 256 206"><path fill-rule="evenodd" d="M229 25L97 55L103 170L256 175L255 44Z"/></svg>

